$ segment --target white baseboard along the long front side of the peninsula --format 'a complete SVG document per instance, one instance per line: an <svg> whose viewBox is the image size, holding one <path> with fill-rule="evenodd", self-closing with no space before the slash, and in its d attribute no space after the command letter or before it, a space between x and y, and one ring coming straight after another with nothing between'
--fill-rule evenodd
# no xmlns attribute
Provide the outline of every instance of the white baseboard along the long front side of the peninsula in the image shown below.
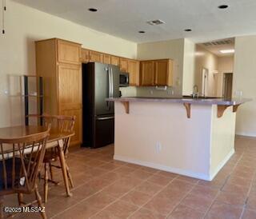
<svg viewBox="0 0 256 219"><path fill-rule="evenodd" d="M206 175L206 174L202 174L202 173L194 173L192 171L173 168L173 167L170 167L167 165L159 165L159 164L151 163L148 161L139 161L139 160L136 160L136 159L133 159L130 157L124 157L124 156L119 156L119 155L114 155L114 160L125 161L125 162L136 164L136 165L143 165L143 166L151 167L154 169L164 170L164 171L170 172L170 173L177 173L180 175L184 175L186 177L194 177L194 178L198 178L201 180L210 181L210 175Z"/></svg>

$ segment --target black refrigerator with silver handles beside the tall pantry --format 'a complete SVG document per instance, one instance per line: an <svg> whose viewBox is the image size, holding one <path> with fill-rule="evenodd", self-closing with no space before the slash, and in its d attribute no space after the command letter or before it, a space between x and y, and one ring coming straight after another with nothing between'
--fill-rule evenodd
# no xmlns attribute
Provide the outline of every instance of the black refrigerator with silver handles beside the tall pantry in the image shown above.
<svg viewBox="0 0 256 219"><path fill-rule="evenodd" d="M114 143L114 102L119 97L118 66L90 62L82 65L83 146Z"/></svg>

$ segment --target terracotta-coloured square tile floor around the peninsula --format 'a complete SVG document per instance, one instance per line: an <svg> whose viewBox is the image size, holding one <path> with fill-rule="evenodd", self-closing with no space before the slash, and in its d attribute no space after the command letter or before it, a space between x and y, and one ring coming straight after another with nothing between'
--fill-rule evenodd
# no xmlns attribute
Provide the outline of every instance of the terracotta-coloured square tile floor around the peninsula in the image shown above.
<svg viewBox="0 0 256 219"><path fill-rule="evenodd" d="M74 177L73 197L65 197L62 184L51 185L47 216L255 219L256 139L237 137L235 150L214 181L208 182L114 161L113 145L78 149L67 161ZM62 178L59 170L54 176ZM5 201L7 206L17 205L16 197ZM18 217L40 216L23 213Z"/></svg>

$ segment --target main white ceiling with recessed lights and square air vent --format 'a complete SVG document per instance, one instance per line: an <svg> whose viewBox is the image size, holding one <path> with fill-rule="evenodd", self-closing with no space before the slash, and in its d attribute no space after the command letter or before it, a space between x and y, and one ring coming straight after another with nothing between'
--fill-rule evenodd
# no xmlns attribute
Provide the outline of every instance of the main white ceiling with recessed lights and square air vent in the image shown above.
<svg viewBox="0 0 256 219"><path fill-rule="evenodd" d="M14 0L132 42L206 42L256 34L255 0ZM220 10L219 5L229 8ZM90 12L88 8L97 8ZM150 26L147 21L166 22ZM184 32L192 29L192 32ZM138 34L138 30L146 31Z"/></svg>

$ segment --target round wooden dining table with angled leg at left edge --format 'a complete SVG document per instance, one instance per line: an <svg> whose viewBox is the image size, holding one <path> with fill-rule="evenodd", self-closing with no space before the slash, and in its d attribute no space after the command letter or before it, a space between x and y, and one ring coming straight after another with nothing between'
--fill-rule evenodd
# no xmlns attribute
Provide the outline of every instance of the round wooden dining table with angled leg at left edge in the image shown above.
<svg viewBox="0 0 256 219"><path fill-rule="evenodd" d="M10 139L10 138L18 138L24 137L34 133L42 133L47 130L46 126L40 125L19 125L19 126L11 126L0 128L0 139ZM72 137L74 132L60 132L56 128L50 129L50 136L48 137L47 143L56 141L56 144L46 144L46 149L50 149L53 147L58 148L58 156L62 166L62 175L63 181L65 183L66 195L68 197L72 196L70 193L69 181L66 173L66 159L63 151L63 139L67 137Z"/></svg>

